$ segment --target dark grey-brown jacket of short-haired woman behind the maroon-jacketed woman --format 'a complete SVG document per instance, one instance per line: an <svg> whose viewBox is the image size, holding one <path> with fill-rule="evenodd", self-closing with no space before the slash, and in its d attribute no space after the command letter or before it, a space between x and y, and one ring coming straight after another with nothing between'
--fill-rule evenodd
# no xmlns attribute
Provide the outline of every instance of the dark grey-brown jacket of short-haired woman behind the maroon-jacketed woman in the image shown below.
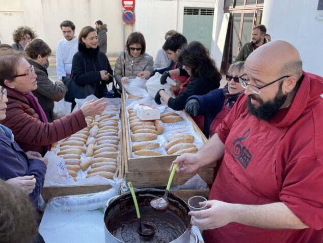
<svg viewBox="0 0 323 243"><path fill-rule="evenodd" d="M53 120L54 101L60 101L64 98L67 87L63 82L57 81L55 84L48 78L47 70L33 60L28 60L30 65L34 65L35 74L37 75L37 89L32 91L43 108L48 122Z"/></svg>

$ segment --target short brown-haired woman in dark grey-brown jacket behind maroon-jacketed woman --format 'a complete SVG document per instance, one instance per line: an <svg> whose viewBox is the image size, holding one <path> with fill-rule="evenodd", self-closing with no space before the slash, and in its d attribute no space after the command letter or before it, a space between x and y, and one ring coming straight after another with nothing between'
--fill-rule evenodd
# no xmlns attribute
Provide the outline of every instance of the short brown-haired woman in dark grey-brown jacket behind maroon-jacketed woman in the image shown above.
<svg viewBox="0 0 323 243"><path fill-rule="evenodd" d="M60 80L54 84L48 78L48 72L43 65L46 63L51 50L43 40L33 39L26 46L25 51L30 58L28 62L33 66L33 71L37 75L37 89L33 90L33 94L45 112L48 122L52 122L54 120L54 101L58 102L64 98L67 87Z"/></svg>

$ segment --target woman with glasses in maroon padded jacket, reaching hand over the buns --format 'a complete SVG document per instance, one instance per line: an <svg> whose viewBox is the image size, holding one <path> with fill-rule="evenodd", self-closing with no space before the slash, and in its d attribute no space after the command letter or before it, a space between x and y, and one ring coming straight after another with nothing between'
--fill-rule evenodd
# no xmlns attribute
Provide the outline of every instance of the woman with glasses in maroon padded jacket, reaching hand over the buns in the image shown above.
<svg viewBox="0 0 323 243"><path fill-rule="evenodd" d="M87 127L86 116L101 113L106 106L86 102L73 113L48 123L47 117L31 91L37 89L33 66L21 54L0 55L0 85L7 89L6 117L1 124L12 130L23 151L36 151L42 156L50 144ZM4 107L5 108L5 107Z"/></svg>

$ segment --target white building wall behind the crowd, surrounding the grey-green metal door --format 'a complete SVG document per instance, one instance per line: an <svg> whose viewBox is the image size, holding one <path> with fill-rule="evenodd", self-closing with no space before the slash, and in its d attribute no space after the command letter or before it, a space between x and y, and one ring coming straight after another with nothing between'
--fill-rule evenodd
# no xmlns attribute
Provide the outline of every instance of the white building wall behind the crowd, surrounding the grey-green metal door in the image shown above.
<svg viewBox="0 0 323 243"><path fill-rule="evenodd" d="M182 33L184 7L214 8L214 2L215 0L137 0L133 31L143 33L146 52L155 58L165 42L167 31L176 30Z"/></svg>

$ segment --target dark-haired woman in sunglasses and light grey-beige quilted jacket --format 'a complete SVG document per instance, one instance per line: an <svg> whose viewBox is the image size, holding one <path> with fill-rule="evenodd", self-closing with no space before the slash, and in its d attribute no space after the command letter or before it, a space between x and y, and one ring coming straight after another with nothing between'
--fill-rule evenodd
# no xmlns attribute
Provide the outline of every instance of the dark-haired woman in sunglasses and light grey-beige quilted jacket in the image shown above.
<svg viewBox="0 0 323 243"><path fill-rule="evenodd" d="M129 79L137 77L141 71L152 71L154 61L146 52L146 41L142 33L131 33L126 42L125 51L119 53L115 64L115 79L121 87Z"/></svg>

